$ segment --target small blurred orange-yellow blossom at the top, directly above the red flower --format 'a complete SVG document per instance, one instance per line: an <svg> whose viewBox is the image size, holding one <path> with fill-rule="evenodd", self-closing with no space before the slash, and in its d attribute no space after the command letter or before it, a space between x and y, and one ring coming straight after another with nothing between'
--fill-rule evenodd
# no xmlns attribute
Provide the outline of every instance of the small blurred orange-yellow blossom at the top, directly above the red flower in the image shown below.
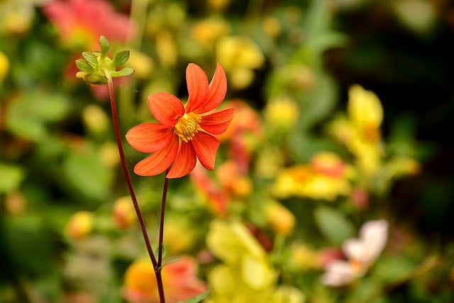
<svg viewBox="0 0 454 303"><path fill-rule="evenodd" d="M199 21L192 28L192 35L202 44L213 45L218 38L230 32L230 23L218 16L211 16Z"/></svg>

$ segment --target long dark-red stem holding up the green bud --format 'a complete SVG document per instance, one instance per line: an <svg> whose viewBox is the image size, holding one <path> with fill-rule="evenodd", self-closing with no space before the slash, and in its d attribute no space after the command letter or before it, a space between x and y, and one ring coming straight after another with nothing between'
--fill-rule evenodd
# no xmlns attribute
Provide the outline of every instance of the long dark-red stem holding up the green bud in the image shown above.
<svg viewBox="0 0 454 303"><path fill-rule="evenodd" d="M107 77L107 85L109 87L109 99L111 101L111 111L112 111L112 121L114 123L115 138L116 144L118 146L118 153L120 154L121 166L123 167L123 174L126 178L126 183L128 184L129 194L133 200L133 205L135 209L135 214L137 215L140 229L142 231L143 240L145 241L145 246L147 248L148 255L150 255L151 262L153 263L153 268L157 268L157 260L155 254L153 253L153 248L151 247L150 238L148 238L147 229L145 226L145 221L143 220L142 212L140 211L137 198L135 197L135 191L133 187L133 182L131 181L131 175L129 175L128 166L126 165L126 157L123 150L123 143L121 142L120 126L118 124L118 115L116 110L116 101L115 101L115 89L114 82L108 70L104 71ZM164 303L162 301L162 303Z"/></svg>

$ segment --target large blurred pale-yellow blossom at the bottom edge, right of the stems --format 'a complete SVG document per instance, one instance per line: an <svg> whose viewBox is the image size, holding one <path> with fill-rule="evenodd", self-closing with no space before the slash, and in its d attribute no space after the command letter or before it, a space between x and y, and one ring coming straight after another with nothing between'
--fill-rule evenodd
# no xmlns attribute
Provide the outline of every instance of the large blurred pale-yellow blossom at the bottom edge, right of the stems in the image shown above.
<svg viewBox="0 0 454 303"><path fill-rule="evenodd" d="M209 303L304 302L296 288L289 297L282 297L267 253L239 221L212 221L206 245L223 262L209 272L213 287Z"/></svg>

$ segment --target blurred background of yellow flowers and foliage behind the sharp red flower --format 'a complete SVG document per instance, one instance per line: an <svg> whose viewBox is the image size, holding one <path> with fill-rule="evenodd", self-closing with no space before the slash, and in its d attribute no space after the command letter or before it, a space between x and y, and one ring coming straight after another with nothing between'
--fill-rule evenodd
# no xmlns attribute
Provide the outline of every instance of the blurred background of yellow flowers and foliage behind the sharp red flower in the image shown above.
<svg viewBox="0 0 454 303"><path fill-rule="evenodd" d="M216 169L170 180L166 258L192 284L169 293L450 302L448 0L0 0L0 302L158 302L131 269L146 253L106 86L75 77L100 35L135 69L115 80L123 134L153 121L149 94L185 102L189 62L226 70ZM146 155L125 149L132 171ZM153 243L163 181L133 175ZM361 228L379 219L371 248ZM367 262L345 248L358 237ZM326 282L333 260L345 272Z"/></svg>

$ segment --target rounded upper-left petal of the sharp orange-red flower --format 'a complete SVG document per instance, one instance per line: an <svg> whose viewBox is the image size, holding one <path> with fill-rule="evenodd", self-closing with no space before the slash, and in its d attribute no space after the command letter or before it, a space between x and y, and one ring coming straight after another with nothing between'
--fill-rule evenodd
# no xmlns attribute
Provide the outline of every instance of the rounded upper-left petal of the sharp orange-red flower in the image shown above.
<svg viewBox="0 0 454 303"><path fill-rule="evenodd" d="M172 94L157 92L148 96L148 107L157 121L165 126L175 126L177 119L184 115L182 101Z"/></svg>

